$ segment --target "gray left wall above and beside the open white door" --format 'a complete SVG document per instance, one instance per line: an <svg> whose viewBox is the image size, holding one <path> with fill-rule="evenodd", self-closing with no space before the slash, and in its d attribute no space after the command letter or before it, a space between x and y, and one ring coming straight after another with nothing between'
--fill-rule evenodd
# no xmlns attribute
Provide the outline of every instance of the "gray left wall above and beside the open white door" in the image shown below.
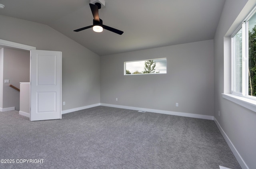
<svg viewBox="0 0 256 169"><path fill-rule="evenodd" d="M100 57L46 26L0 15L0 39L62 51L62 110L100 103ZM86 40L86 39L85 39Z"/></svg>

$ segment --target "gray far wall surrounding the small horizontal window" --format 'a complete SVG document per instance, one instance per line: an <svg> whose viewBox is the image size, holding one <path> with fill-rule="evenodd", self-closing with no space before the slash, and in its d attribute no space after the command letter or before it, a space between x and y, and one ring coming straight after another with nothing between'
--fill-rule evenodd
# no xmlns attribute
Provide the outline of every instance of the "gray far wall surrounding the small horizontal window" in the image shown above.
<svg viewBox="0 0 256 169"><path fill-rule="evenodd" d="M163 57L166 74L124 76L125 61ZM213 40L106 55L100 63L101 103L214 114Z"/></svg>

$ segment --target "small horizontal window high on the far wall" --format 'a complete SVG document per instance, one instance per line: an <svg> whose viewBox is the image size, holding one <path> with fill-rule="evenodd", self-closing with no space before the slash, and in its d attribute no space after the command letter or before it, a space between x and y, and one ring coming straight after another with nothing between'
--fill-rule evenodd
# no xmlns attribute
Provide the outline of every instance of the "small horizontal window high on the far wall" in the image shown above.
<svg viewBox="0 0 256 169"><path fill-rule="evenodd" d="M124 75L166 73L166 58L124 62Z"/></svg>

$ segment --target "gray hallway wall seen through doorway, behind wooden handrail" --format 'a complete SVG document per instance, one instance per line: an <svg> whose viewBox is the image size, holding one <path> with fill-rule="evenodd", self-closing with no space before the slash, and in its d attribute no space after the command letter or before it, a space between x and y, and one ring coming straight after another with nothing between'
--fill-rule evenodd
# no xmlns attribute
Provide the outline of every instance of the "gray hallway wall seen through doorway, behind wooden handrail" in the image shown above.
<svg viewBox="0 0 256 169"><path fill-rule="evenodd" d="M13 85L20 88L20 82L30 82L30 52L4 48L3 82L3 107L15 107L20 110L20 92L11 88Z"/></svg>

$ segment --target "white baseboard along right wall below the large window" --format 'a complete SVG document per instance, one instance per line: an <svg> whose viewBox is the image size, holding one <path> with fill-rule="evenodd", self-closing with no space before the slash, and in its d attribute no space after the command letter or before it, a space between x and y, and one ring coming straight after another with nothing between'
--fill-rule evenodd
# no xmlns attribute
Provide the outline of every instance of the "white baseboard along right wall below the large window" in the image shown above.
<svg viewBox="0 0 256 169"><path fill-rule="evenodd" d="M238 161L238 163L240 164L240 166L242 167L242 169L249 169L249 167L246 165L246 163L244 162L244 160L242 159L241 155L238 153L236 147L234 146L234 144L231 142L231 140L228 138L227 134L224 132L224 130L222 129L222 127L220 126L218 120L214 117L214 122L217 125L218 129L220 130L220 133L222 134L222 136L224 137L224 139L226 140L226 142L228 143L228 146L230 147L232 153L234 154L234 156L236 157L236 160Z"/></svg>

